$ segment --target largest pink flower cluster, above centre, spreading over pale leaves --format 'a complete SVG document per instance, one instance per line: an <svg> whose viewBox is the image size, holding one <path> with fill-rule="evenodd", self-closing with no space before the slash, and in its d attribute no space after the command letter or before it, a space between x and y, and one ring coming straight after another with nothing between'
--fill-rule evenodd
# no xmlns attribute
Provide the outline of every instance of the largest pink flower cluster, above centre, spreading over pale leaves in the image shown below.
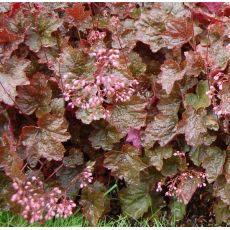
<svg viewBox="0 0 230 230"><path fill-rule="evenodd" d="M64 98L70 108L94 109L103 107L103 103L128 101L138 85L137 80L129 80L119 71L109 73L108 69L119 67L120 51L117 49L99 49L91 55L96 58L97 71L93 78L79 79L68 72L63 76ZM104 118L109 111L104 109ZM96 120L96 117L95 119Z"/></svg>

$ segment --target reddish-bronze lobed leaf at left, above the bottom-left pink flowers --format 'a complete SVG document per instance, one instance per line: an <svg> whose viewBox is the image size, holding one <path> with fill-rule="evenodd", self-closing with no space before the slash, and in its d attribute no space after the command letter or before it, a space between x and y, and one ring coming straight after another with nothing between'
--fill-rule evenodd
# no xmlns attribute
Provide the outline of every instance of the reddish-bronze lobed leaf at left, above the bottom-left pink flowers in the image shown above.
<svg viewBox="0 0 230 230"><path fill-rule="evenodd" d="M67 128L68 122L62 114L46 114L38 119L38 126L23 127L20 142L27 155L60 161L65 152L61 142L70 138Z"/></svg>

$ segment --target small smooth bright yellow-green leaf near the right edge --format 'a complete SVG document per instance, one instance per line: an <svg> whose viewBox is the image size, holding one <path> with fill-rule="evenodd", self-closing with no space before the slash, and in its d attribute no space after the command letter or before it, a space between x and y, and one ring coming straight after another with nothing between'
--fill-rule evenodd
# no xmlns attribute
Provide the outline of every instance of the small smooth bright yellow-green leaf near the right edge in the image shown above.
<svg viewBox="0 0 230 230"><path fill-rule="evenodd" d="M209 91L208 81L199 81L196 87L196 94L188 93L185 95L185 101L188 105L191 105L194 109L206 108L210 106L211 100L206 94Z"/></svg>

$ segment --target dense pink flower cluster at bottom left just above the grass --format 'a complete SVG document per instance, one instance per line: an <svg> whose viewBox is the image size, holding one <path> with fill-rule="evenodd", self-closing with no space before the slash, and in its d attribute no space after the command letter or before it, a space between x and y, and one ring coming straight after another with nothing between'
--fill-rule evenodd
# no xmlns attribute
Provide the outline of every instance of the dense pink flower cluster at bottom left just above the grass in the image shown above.
<svg viewBox="0 0 230 230"><path fill-rule="evenodd" d="M53 217L67 218L72 215L72 209L76 207L76 204L67 199L58 187L45 191L43 182L35 176L25 182L15 181L13 188L16 193L11 201L23 207L22 216L31 224Z"/></svg>

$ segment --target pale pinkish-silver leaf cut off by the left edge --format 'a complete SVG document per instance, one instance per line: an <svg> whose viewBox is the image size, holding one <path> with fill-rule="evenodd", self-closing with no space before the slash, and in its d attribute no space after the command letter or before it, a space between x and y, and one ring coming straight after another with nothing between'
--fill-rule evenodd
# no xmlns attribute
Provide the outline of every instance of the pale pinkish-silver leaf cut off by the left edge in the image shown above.
<svg viewBox="0 0 230 230"><path fill-rule="evenodd" d="M4 65L0 64L0 101L14 105L18 85L28 85L25 69L30 61L13 56Z"/></svg>

